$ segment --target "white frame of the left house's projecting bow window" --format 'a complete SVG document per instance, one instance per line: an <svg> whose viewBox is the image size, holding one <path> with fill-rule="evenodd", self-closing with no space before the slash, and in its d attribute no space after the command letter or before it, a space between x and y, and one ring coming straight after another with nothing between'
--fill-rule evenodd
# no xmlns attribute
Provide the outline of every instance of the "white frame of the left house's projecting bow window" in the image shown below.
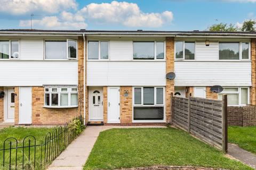
<svg viewBox="0 0 256 170"><path fill-rule="evenodd" d="M52 89L57 88L57 91L52 91ZM61 91L61 89L66 89L67 91ZM44 87L44 106L47 108L73 108L78 107L78 89L75 91L71 91L73 88L78 88L77 86L45 86ZM49 91L46 91L49 89ZM46 94L49 94L49 105L45 105ZM52 106L52 94L58 94L58 106ZM61 94L68 94L68 105L61 106L60 98ZM71 105L71 94L77 94L77 105Z"/></svg>

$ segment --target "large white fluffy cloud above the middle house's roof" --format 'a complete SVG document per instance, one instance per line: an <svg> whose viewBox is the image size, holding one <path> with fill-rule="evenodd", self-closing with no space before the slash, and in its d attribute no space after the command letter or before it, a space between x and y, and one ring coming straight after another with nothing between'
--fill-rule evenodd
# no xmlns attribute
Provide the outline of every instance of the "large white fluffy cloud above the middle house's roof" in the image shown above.
<svg viewBox="0 0 256 170"><path fill-rule="evenodd" d="M127 27L161 27L173 20L171 11L144 13L135 3L117 2L91 3L77 14L98 23L121 23Z"/></svg>

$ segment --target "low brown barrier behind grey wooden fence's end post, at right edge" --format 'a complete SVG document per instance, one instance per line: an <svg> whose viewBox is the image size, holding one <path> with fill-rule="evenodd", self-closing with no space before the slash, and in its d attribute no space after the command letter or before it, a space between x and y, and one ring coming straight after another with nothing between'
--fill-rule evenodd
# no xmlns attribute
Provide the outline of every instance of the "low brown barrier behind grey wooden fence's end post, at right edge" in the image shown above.
<svg viewBox="0 0 256 170"><path fill-rule="evenodd" d="M228 125L256 126L256 106L229 106Z"/></svg>

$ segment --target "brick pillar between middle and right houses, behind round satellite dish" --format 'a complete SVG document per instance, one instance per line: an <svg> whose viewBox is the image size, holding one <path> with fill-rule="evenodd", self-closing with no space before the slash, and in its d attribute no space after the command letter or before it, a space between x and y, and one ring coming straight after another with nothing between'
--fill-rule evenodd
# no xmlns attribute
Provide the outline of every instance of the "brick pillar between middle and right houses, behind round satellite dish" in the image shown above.
<svg viewBox="0 0 256 170"><path fill-rule="evenodd" d="M166 37L166 73L174 72L174 37ZM165 114L166 123L171 122L171 93L174 92L174 80L166 79Z"/></svg>

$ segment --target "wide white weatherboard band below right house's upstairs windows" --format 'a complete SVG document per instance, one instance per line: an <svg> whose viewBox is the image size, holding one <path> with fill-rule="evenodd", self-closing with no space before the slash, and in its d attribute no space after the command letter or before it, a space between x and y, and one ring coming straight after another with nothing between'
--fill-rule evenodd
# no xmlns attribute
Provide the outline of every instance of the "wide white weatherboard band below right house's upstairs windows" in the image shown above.
<svg viewBox="0 0 256 170"><path fill-rule="evenodd" d="M251 86L251 62L174 62L175 86Z"/></svg>

